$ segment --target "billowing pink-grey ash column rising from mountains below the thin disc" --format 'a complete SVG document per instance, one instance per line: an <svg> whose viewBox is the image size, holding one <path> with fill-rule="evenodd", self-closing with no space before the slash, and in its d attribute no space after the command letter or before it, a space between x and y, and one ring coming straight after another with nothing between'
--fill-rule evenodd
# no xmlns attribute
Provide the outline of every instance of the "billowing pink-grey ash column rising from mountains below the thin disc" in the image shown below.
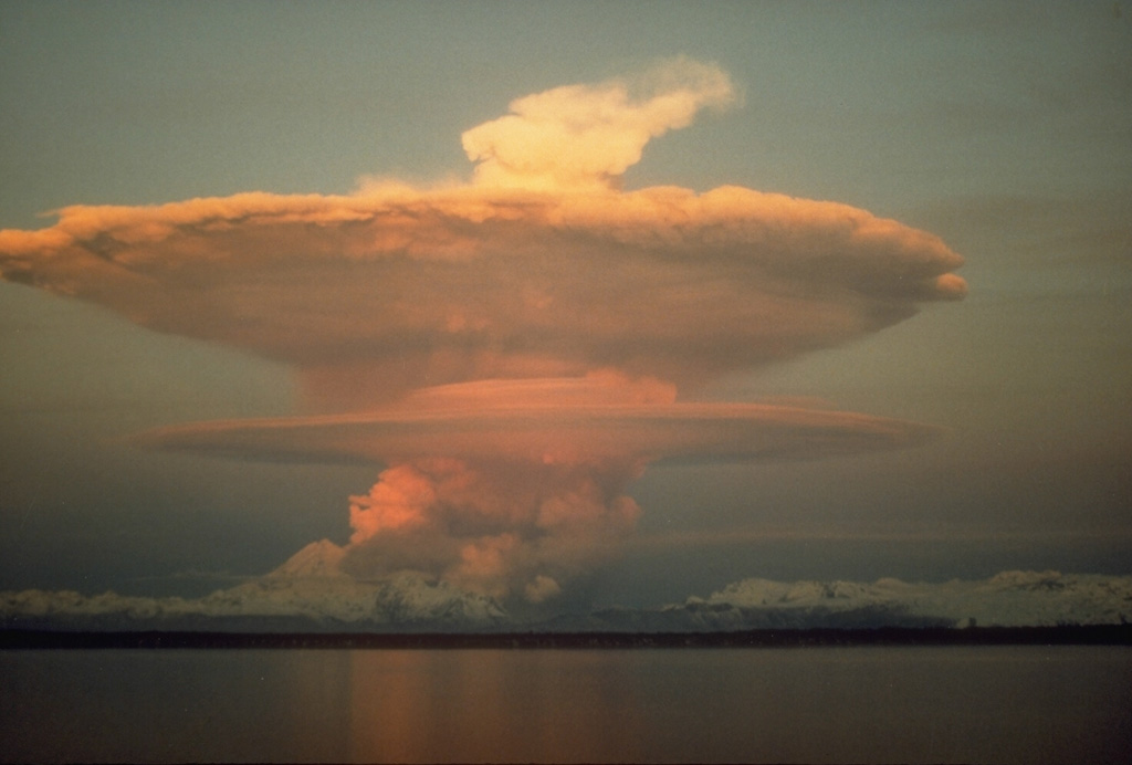
<svg viewBox="0 0 1132 765"><path fill-rule="evenodd" d="M640 467L395 462L350 498L338 569L372 581L412 570L463 590L531 602L614 555L641 508L623 493Z"/></svg>

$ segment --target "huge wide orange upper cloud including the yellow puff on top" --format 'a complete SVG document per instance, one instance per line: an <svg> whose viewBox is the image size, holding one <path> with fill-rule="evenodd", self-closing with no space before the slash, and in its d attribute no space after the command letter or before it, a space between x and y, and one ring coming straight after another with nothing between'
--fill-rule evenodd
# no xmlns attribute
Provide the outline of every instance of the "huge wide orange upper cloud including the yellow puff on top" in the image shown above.
<svg viewBox="0 0 1132 765"><path fill-rule="evenodd" d="M316 409L595 368L694 389L963 294L942 241L847 205L616 190L651 137L734 98L687 59L638 79L514 102L464 135L472 184L71 206L0 232L0 274L294 364Z"/></svg>

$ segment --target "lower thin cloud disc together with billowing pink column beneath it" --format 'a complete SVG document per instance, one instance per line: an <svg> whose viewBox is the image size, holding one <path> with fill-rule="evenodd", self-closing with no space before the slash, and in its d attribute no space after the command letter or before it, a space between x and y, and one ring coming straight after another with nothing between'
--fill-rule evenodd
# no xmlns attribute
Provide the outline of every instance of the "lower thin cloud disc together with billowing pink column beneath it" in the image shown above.
<svg viewBox="0 0 1132 765"><path fill-rule="evenodd" d="M410 569L540 602L618 551L641 514L625 488L649 463L814 458L935 433L863 414L674 395L608 372L486 380L369 413L194 423L142 438L206 454L386 464L350 498L342 570L375 579Z"/></svg>

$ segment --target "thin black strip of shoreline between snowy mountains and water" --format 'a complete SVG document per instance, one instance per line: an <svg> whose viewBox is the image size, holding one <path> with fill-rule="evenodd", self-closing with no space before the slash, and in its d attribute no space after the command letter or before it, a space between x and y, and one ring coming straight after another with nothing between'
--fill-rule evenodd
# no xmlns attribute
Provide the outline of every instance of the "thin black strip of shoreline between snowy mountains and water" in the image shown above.
<svg viewBox="0 0 1132 765"><path fill-rule="evenodd" d="M209 633L0 630L0 650L33 648L775 648L822 646L1123 645L1132 625L734 633Z"/></svg>

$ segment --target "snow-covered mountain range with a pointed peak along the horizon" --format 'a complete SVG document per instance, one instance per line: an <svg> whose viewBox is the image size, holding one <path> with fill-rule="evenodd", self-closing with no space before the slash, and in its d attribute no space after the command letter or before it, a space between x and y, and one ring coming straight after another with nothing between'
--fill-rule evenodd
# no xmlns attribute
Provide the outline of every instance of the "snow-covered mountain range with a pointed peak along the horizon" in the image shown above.
<svg viewBox="0 0 1132 765"><path fill-rule="evenodd" d="M5 592L0 593L0 625L9 629L659 633L1120 625L1132 618L1132 576L1004 571L988 579L940 584L753 578L679 604L531 620L508 613L492 598L422 574L360 582L334 567L335 549L315 543L267 576L198 599Z"/></svg>

